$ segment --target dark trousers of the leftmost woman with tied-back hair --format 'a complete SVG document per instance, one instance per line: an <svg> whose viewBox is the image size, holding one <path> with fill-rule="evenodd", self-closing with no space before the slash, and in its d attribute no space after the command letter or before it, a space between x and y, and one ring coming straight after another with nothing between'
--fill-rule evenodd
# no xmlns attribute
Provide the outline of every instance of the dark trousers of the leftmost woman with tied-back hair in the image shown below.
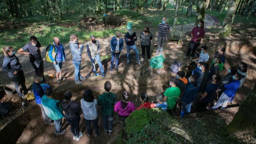
<svg viewBox="0 0 256 144"><path fill-rule="evenodd" d="M15 89L19 96L23 97L24 93L22 93L23 90L27 90L26 88L26 80L24 76L23 70L19 70L17 74L10 74L8 73L9 78L13 81L15 84Z"/></svg>

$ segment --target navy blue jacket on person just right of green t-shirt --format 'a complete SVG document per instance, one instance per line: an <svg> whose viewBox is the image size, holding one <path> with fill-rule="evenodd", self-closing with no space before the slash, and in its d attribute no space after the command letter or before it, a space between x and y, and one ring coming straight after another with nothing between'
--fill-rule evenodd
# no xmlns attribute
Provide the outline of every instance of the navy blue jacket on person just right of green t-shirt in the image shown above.
<svg viewBox="0 0 256 144"><path fill-rule="evenodd" d="M188 83L186 90L183 94L183 97L181 98L181 101L184 104L189 104L193 102L196 94L198 93L198 90L199 90L199 84L197 84L197 86L195 87L194 83Z"/></svg>

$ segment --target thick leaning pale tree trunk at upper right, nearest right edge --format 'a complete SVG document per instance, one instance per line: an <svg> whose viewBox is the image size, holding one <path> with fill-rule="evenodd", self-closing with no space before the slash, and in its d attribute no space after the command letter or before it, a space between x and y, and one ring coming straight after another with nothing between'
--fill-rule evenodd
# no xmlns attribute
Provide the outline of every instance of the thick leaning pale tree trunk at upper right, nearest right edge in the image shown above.
<svg viewBox="0 0 256 144"><path fill-rule="evenodd" d="M227 14L225 16L223 26L220 32L220 37L227 37L231 33L232 23L234 21L235 12L237 9L238 0L230 0L227 8Z"/></svg>

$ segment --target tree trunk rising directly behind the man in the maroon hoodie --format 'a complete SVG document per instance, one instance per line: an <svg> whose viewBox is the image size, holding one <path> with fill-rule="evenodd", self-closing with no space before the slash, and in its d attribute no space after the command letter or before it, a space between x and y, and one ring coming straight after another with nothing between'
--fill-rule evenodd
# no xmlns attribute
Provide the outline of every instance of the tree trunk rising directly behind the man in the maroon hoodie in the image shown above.
<svg viewBox="0 0 256 144"><path fill-rule="evenodd" d="M197 1L195 25L198 25L200 20L205 21L205 7L206 7L206 0Z"/></svg>

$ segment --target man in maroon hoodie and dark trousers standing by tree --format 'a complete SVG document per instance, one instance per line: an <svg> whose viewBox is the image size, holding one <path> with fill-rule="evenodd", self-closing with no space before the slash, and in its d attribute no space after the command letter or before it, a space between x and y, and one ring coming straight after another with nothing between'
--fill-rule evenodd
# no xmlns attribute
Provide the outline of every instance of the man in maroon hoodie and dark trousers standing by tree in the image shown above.
<svg viewBox="0 0 256 144"><path fill-rule="evenodd" d="M190 60L193 59L193 56L195 55L195 50L200 45L201 39L204 36L205 36L204 21L200 20L198 26L195 26L191 31L191 41L189 42L189 48L186 52L186 56L184 56L183 58L189 58L190 56Z"/></svg>

